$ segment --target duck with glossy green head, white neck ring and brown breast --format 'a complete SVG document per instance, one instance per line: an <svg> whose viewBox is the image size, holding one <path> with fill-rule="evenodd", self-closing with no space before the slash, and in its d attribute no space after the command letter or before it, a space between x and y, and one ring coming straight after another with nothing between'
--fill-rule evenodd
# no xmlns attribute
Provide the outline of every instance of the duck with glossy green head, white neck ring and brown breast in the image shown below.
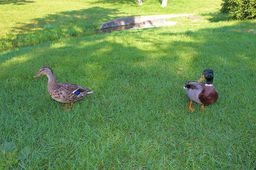
<svg viewBox="0 0 256 170"><path fill-rule="evenodd" d="M206 83L201 83L206 79ZM212 69L205 69L202 77L198 81L187 81L183 86L190 99L189 110L193 111L192 102L202 104L202 110L206 110L204 105L209 105L217 101L219 94L212 85L213 71Z"/></svg>

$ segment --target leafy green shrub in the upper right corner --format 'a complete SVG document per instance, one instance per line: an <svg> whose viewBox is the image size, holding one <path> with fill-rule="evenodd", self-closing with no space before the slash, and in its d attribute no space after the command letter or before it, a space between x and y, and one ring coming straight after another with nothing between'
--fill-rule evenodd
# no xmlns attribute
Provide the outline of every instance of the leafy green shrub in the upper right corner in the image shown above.
<svg viewBox="0 0 256 170"><path fill-rule="evenodd" d="M239 20L256 18L256 0L223 0L221 12Z"/></svg>

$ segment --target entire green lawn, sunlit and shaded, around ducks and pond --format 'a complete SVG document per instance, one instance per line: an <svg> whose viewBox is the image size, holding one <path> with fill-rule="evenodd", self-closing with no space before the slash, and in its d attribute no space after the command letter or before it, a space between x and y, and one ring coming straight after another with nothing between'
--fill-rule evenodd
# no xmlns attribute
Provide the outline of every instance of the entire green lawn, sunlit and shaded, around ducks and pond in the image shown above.
<svg viewBox="0 0 256 170"><path fill-rule="evenodd" d="M255 20L228 20L216 13L221 1L213 0L169 0L163 9L153 0L143 6L135 0L14 2L0 1L0 16L13 16L1 10L8 7L26 14L20 23L14 16L10 25L1 23L1 39L39 40L22 48L10 44L0 53L0 144L13 141L17 152L28 147L31 153L4 166L0 156L0 169L256 167ZM33 6L45 11L36 13ZM172 27L93 31L118 17L166 13L203 18L175 18L181 24ZM70 27L83 29L72 36ZM49 96L47 77L33 78L42 66L50 66L59 82L83 85L93 94L65 112L65 104ZM219 99L208 111L193 103L191 112L182 86L206 68L214 71Z"/></svg>

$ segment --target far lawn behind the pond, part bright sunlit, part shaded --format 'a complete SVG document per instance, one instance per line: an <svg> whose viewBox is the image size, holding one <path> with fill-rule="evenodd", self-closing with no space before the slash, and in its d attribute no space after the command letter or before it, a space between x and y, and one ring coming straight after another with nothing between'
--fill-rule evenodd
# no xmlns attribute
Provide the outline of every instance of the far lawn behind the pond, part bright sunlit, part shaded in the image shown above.
<svg viewBox="0 0 256 170"><path fill-rule="evenodd" d="M0 51L60 38L98 34L100 24L116 18L216 10L220 1L0 1ZM31 3L33 2L33 3ZM18 5L22 3L24 5ZM205 7L212 6L212 7ZM180 10L182 9L182 10ZM12 20L10 20L12 18Z"/></svg>

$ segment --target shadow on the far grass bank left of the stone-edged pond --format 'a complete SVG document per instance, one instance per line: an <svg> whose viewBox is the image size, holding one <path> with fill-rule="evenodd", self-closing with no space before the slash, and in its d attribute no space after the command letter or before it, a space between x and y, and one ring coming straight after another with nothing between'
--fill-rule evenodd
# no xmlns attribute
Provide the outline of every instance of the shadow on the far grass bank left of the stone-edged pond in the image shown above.
<svg viewBox="0 0 256 170"><path fill-rule="evenodd" d="M36 45L63 37L81 37L99 33L100 24L112 20L118 10L108 8L88 8L64 11L44 18L36 18L31 24L19 23L12 29L13 34L1 38L0 51L21 46Z"/></svg>

